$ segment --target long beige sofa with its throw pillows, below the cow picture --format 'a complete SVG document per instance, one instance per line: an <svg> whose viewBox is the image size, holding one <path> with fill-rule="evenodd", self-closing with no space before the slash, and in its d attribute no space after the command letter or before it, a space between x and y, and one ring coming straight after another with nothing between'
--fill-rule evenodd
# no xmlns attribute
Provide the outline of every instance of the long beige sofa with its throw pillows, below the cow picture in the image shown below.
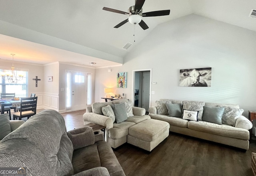
<svg viewBox="0 0 256 176"><path fill-rule="evenodd" d="M246 117L241 115L243 110L239 109L238 105L171 99L160 99L159 101L156 101L156 104L156 106L149 108L151 119L168 122L170 124L171 132L202 138L245 150L248 150L249 148L249 130L252 128L252 123ZM174 105L177 105L176 109L172 108ZM178 105L182 108L181 112L180 110L177 110ZM216 117L215 111L206 111L206 109L219 110L220 108L224 108L224 111L222 112L223 114L220 113L220 117L218 117L217 120L214 119ZM197 111L198 115L201 117L198 121L182 119L182 111L184 109ZM232 109L236 113L232 113L232 111L228 111L228 109ZM176 113L171 112L171 110L176 111ZM172 114L178 115L173 117Z"/></svg>

